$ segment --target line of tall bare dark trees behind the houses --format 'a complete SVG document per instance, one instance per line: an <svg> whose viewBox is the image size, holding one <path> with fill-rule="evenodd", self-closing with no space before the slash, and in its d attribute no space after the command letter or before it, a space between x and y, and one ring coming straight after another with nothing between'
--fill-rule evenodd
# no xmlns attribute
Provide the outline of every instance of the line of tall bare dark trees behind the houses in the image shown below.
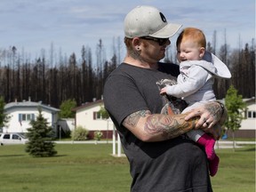
<svg viewBox="0 0 256 192"><path fill-rule="evenodd" d="M52 107L60 108L64 100L76 100L77 106L93 99L100 100L103 86L110 72L121 60L120 39L113 45L113 55L106 59L106 50L100 39L97 44L96 62L92 62L92 49L82 46L80 58L73 52L69 56L59 52L58 60L51 47L47 58L43 49L40 57L31 60L15 46L0 50L0 95L4 101L14 100L42 101ZM244 98L255 96L255 44L244 44L244 47L230 49L224 42L220 50L211 43L207 50L217 55L231 71L230 80L217 79L214 92L217 99L225 98L228 87L233 84ZM175 53L168 51L164 62L177 63Z"/></svg>

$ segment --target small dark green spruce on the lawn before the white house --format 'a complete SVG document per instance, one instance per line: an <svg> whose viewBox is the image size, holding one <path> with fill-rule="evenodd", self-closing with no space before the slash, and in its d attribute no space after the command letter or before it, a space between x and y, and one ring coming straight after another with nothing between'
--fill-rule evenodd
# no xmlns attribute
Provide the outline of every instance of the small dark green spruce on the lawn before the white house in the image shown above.
<svg viewBox="0 0 256 192"><path fill-rule="evenodd" d="M28 145L26 152L31 156L45 157L55 156L57 151L54 149L52 127L48 126L47 120L42 115L42 109L38 108L39 115L36 121L32 120L31 128L28 129Z"/></svg>

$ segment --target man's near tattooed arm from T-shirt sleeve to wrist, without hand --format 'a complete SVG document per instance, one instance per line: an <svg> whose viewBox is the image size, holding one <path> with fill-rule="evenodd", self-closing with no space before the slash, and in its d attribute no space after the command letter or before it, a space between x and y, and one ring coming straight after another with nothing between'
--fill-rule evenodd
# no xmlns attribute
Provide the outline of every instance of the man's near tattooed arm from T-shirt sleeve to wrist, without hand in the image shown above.
<svg viewBox="0 0 256 192"><path fill-rule="evenodd" d="M127 116L123 125L138 139L145 142L170 140L195 128L199 117L186 121L185 116L187 115L168 116L141 110Z"/></svg>

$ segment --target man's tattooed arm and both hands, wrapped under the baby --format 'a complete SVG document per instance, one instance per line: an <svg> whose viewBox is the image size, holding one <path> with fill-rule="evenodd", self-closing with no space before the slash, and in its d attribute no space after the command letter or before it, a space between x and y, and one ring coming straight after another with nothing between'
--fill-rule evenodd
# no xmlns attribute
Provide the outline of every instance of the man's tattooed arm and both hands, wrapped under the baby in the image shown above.
<svg viewBox="0 0 256 192"><path fill-rule="evenodd" d="M145 142L170 140L198 128L212 132L217 139L220 137L220 126L217 123L223 116L223 110L225 114L225 108L221 108L220 103L214 101L196 108L191 113L173 116L151 114L148 110L141 110L127 116L123 125L138 139ZM217 126L214 126L215 124Z"/></svg>

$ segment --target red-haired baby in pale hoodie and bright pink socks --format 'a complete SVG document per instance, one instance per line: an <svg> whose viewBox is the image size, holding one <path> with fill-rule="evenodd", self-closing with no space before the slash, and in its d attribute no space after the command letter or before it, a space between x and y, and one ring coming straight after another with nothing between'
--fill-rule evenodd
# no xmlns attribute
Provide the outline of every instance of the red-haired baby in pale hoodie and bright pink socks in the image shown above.
<svg viewBox="0 0 256 192"><path fill-rule="evenodd" d="M177 84L166 85L161 94L182 98L188 103L182 113L198 107L207 101L216 100L212 89L214 78L230 78L227 66L215 55L205 51L206 40L204 33L197 28L185 28L177 39L177 59L180 61L180 75ZM207 126L209 123L205 119ZM215 140L202 130L193 130L187 133L191 140L204 146L209 159L210 175L218 171L220 162L215 154Z"/></svg>

